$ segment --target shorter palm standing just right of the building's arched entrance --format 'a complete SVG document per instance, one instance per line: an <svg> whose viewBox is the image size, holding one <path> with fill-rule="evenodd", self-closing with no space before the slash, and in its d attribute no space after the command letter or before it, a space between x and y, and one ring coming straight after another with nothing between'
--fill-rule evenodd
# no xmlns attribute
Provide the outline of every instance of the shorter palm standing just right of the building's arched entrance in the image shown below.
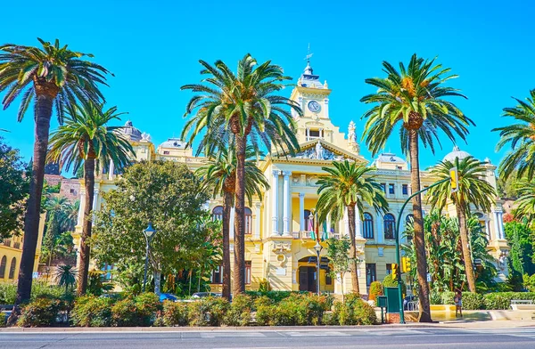
<svg viewBox="0 0 535 349"><path fill-rule="evenodd" d="M350 221L350 258L351 258L351 286L353 292L360 294L358 288L358 258L355 242L355 211L361 218L364 215L364 204L374 207L377 212L387 212L388 203L384 198L381 184L376 183L374 176L365 175L373 171L373 167L357 165L355 162L333 161L333 167L322 167L327 175L322 175L317 181L318 221L325 222L328 214L334 222L340 221L347 209Z"/></svg>

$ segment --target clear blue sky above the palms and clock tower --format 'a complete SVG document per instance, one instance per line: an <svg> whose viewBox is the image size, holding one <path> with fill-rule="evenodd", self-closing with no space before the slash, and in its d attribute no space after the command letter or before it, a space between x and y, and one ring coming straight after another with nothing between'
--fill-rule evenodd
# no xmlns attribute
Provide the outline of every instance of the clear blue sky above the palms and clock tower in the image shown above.
<svg viewBox="0 0 535 349"><path fill-rule="evenodd" d="M180 86L200 80L199 59L226 61L232 67L244 53L259 61L272 60L296 81L305 67L310 43L312 66L333 89L330 114L347 132L353 119L358 135L366 106L359 99L374 89L366 77L383 76L383 60L408 61L412 53L438 56L460 77L450 85L462 89L467 101L457 105L477 126L462 149L497 164L498 134L505 125L504 107L511 96L525 98L535 88L534 5L529 2L319 2L319 1L126 1L52 3L28 0L2 4L0 43L38 45L36 37L56 37L70 48L94 53L110 69L110 88L103 88L110 105L128 111L134 125L152 135L158 145L179 135L185 102L191 97ZM471 4L472 3L472 4ZM290 93L287 89L285 93ZM33 118L16 122L16 109L0 111L2 135L32 152ZM54 120L52 128L57 126ZM443 138L436 155L422 152L431 166L452 148ZM370 154L361 144L362 153ZM399 151L398 139L386 150Z"/></svg>

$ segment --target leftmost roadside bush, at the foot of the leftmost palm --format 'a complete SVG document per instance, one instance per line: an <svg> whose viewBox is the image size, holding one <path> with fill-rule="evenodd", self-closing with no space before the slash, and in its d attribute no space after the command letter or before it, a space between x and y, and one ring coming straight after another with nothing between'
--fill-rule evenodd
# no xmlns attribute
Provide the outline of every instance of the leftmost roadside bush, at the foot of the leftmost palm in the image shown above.
<svg viewBox="0 0 535 349"><path fill-rule="evenodd" d="M62 302L57 299L37 298L21 308L17 324L21 327L48 327L56 323Z"/></svg>

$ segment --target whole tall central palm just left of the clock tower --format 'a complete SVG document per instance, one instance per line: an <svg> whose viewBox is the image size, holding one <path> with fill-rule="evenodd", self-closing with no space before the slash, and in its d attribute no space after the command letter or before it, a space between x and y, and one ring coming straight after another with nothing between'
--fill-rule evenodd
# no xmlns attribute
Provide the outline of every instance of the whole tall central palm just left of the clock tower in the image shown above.
<svg viewBox="0 0 535 349"><path fill-rule="evenodd" d="M266 61L255 68L257 61L246 54L238 62L235 75L223 61L211 66L200 61L204 69L204 84L184 85L183 90L196 94L187 103L185 116L195 112L186 124L182 137L191 132L193 138L206 131L207 134L219 133L220 126L234 134L236 156L235 189L235 287L234 292L243 293L245 265L245 161L248 141L259 151L259 143L268 150L282 149L290 154L299 150L295 137L292 115L284 107L290 107L302 114L298 104L274 93L284 88L283 69Z"/></svg>

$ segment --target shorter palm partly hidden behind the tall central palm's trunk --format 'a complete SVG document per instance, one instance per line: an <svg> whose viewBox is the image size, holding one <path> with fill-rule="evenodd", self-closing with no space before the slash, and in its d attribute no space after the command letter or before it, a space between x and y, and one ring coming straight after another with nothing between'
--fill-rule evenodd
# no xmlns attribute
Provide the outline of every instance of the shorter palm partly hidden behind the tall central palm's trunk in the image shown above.
<svg viewBox="0 0 535 349"><path fill-rule="evenodd" d="M245 195L252 203L256 195L262 198L262 190L268 190L266 177L256 164L256 153L251 146L245 153ZM205 185L212 190L213 198L223 197L223 296L230 299L230 211L234 204L236 190L236 157L232 146L221 147L218 157L210 156L208 163L197 170Z"/></svg>

